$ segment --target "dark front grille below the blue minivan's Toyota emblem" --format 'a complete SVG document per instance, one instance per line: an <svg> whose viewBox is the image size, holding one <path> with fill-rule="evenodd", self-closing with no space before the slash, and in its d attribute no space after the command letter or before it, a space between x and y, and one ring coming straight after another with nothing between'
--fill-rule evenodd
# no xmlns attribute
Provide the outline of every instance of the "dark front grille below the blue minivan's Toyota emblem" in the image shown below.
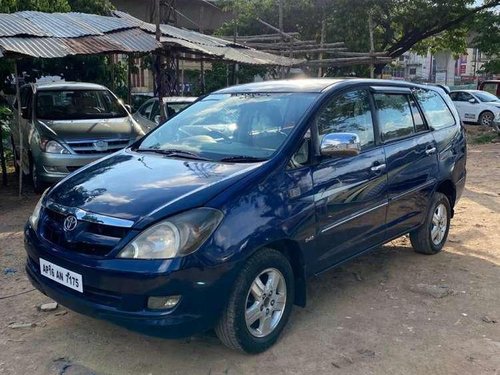
<svg viewBox="0 0 500 375"><path fill-rule="evenodd" d="M43 210L40 218L42 237L65 251L102 257L128 234L127 228L86 221L79 221L74 230L66 232L65 219L66 215L48 208Z"/></svg>

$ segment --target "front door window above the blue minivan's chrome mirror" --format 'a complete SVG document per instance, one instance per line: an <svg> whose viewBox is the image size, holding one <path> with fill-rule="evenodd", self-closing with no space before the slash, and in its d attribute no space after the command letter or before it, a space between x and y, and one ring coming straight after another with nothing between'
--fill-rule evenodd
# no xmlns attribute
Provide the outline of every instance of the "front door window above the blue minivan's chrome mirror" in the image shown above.
<svg viewBox="0 0 500 375"><path fill-rule="evenodd" d="M355 90L333 98L317 117L320 139L328 133L354 133L361 148L375 144L372 113L367 90Z"/></svg>

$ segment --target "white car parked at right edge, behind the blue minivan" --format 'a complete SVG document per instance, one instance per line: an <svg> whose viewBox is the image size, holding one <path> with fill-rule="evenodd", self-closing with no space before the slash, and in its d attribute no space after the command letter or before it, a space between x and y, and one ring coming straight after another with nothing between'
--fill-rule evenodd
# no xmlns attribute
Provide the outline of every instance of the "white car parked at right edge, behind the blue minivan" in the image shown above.
<svg viewBox="0 0 500 375"><path fill-rule="evenodd" d="M460 119L484 126L500 124L500 99L480 90L460 90L450 92Z"/></svg>

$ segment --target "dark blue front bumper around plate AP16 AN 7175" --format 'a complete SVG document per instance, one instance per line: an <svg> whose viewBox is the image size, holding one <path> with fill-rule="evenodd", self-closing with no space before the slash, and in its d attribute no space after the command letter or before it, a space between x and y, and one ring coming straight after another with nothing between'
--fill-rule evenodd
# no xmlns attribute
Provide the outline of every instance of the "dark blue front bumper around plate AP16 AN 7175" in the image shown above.
<svg viewBox="0 0 500 375"><path fill-rule="evenodd" d="M29 224L25 228L25 249L31 283L56 302L91 317L166 338L186 337L212 328L235 275L228 265L206 268L196 265L193 259L187 261L189 266L181 265L179 260L97 259L63 254L40 240ZM81 274L83 293L42 276L40 258ZM147 309L149 296L169 295L182 296L173 309Z"/></svg>

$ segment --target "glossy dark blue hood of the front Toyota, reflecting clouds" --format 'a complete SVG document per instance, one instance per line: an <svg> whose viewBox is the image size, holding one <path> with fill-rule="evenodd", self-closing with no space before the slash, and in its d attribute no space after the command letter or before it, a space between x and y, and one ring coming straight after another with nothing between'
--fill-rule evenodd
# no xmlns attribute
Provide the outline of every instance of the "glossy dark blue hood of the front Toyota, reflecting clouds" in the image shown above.
<svg viewBox="0 0 500 375"><path fill-rule="evenodd" d="M47 199L138 222L198 207L262 163L223 164L123 150L56 185Z"/></svg>

